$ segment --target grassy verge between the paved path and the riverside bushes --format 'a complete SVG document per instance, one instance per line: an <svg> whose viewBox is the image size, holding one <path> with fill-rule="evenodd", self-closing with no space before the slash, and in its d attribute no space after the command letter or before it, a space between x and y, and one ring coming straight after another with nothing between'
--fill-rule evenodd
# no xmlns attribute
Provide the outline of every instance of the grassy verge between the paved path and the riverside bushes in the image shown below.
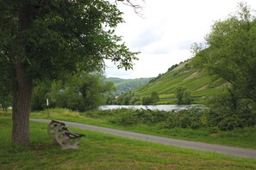
<svg viewBox="0 0 256 170"><path fill-rule="evenodd" d="M47 116L47 114L49 114L49 116ZM160 137L173 137L190 141L199 141L203 143L216 143L228 146L256 149L255 126L245 129L236 129L234 131L217 131L214 134L210 133L209 129L163 129L162 124L136 124L123 126L120 124L112 124L104 118L87 118L84 117L83 114L80 114L78 112L71 112L66 109L54 109L44 112L34 112L32 113L31 118L59 119L84 124L93 124L124 131L140 132Z"/></svg>

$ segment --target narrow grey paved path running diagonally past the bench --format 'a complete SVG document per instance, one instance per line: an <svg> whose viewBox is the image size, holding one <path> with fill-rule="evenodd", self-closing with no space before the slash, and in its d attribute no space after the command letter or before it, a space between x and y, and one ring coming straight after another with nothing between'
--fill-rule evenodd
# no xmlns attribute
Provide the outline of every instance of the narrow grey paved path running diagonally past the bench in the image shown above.
<svg viewBox="0 0 256 170"><path fill-rule="evenodd" d="M38 118L30 118L30 120L34 122L41 122L41 123L49 123L51 121L49 119L38 119ZM219 144L184 141L184 140L172 139L167 137L156 137L152 135L145 135L145 134L135 133L131 131L114 130L110 128L95 126L95 125L78 124L78 123L72 123L72 122L66 122L66 121L62 121L62 122L64 122L69 127L75 127L78 129L84 129L84 130L90 130L90 131L101 131L103 133L108 133L108 134L112 134L120 137L139 139L142 141L147 141L152 143L164 143L167 145L178 146L181 148L197 149L197 150L203 150L203 151L222 153L226 155L243 156L243 157L256 159L256 149L243 149L243 148L237 148L237 147L223 146Z"/></svg>

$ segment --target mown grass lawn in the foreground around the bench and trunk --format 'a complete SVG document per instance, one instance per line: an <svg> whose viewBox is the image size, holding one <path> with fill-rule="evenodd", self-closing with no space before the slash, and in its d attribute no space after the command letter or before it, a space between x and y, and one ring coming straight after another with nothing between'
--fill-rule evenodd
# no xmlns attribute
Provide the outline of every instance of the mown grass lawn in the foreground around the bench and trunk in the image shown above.
<svg viewBox="0 0 256 170"><path fill-rule="evenodd" d="M78 150L60 149L47 137L47 124L30 123L31 144L10 144L11 118L0 117L0 169L256 169L256 160L179 149L94 131Z"/></svg>

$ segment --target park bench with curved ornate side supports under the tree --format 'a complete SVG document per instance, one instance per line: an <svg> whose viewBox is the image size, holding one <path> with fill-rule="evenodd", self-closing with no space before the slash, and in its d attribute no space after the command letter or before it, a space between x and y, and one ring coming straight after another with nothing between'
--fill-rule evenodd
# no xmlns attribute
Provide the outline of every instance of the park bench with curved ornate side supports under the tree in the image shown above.
<svg viewBox="0 0 256 170"><path fill-rule="evenodd" d="M51 137L54 142L59 143L63 150L78 149L78 143L82 137L85 137L84 134L69 131L65 123L57 120L52 120L50 124L48 124L47 132L49 137Z"/></svg>

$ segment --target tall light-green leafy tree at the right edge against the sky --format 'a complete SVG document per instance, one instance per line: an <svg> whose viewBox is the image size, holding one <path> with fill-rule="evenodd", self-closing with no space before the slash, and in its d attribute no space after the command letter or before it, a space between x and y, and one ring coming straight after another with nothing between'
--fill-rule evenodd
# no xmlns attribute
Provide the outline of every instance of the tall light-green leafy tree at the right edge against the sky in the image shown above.
<svg viewBox="0 0 256 170"><path fill-rule="evenodd" d="M229 82L240 98L256 102L256 20L246 3L235 15L216 21L206 40L209 48L201 56L205 68Z"/></svg>

